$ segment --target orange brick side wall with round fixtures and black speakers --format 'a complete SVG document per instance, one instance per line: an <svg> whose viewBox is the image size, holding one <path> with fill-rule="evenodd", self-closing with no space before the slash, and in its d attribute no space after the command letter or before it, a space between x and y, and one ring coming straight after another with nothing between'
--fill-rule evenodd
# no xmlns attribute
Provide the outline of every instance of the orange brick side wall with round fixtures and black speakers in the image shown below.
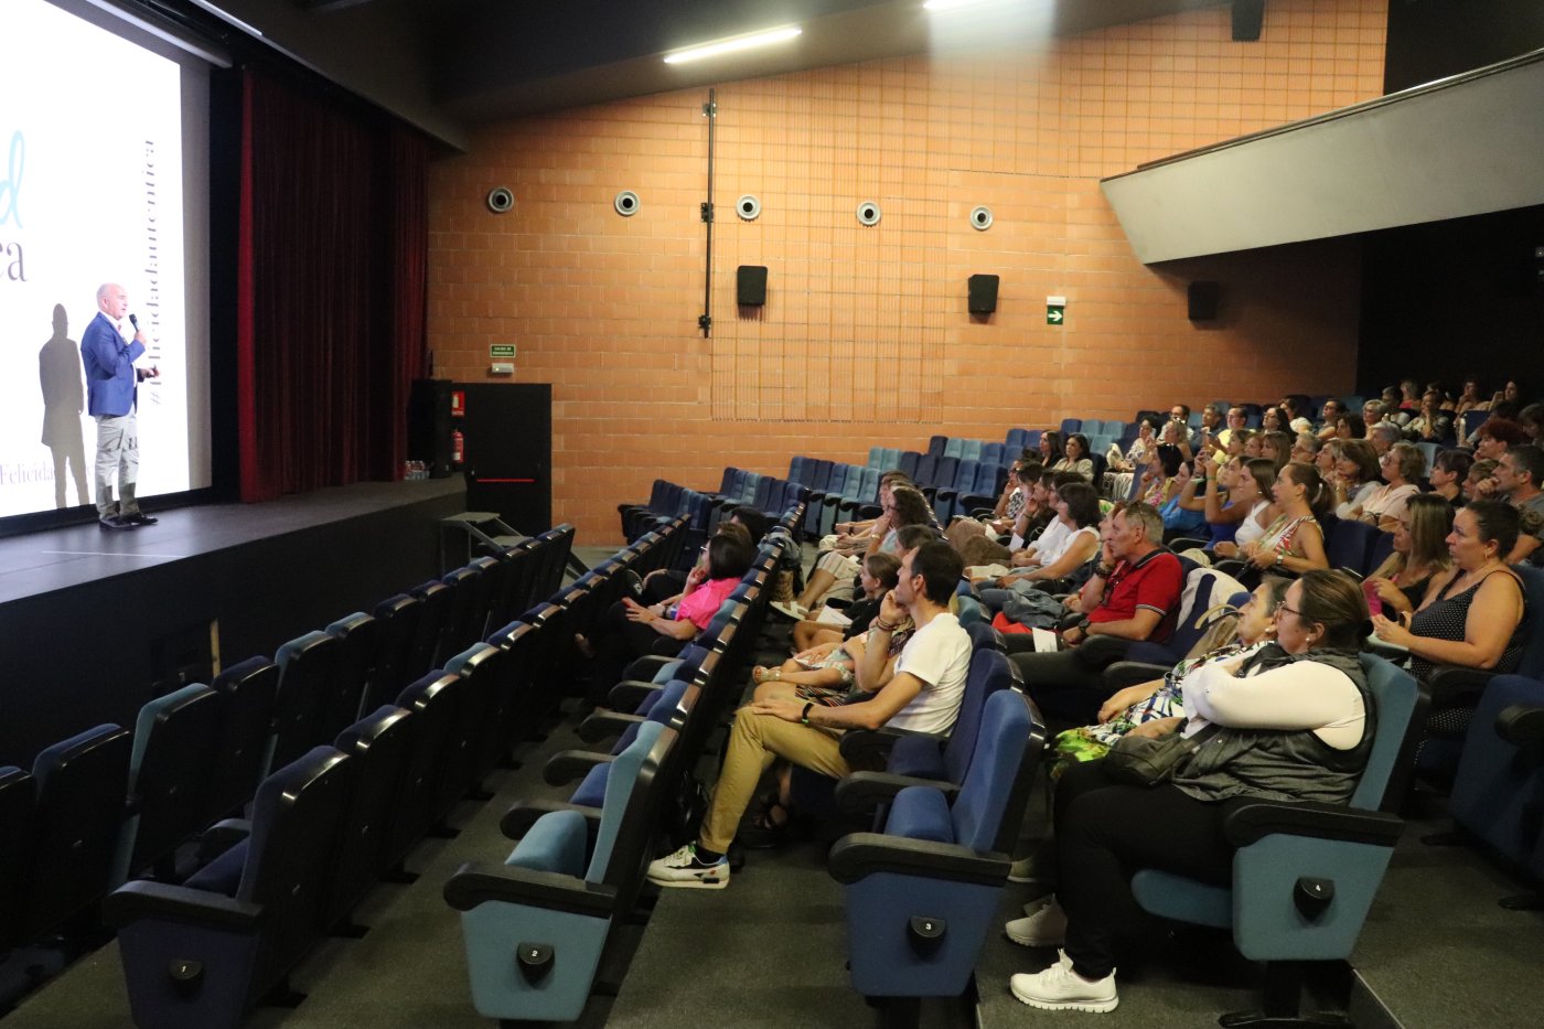
<svg viewBox="0 0 1544 1029"><path fill-rule="evenodd" d="M1101 176L1380 93L1387 0L1226 6L993 54L916 56L716 87L713 332L703 338L706 90L486 127L431 176L437 374L553 383L553 514L618 538L615 504L726 464L862 462L871 445L1001 439L1175 400L1349 391L1359 261L1322 243L1144 267ZM514 210L483 198L508 185ZM631 218L611 209L635 190ZM735 215L743 193L755 221ZM857 222L860 201L883 210ZM977 232L968 213L991 207ZM735 269L769 267L763 309ZM1002 277L997 312L965 307ZM1223 283L1192 324L1186 284ZM1045 297L1067 297L1062 326Z"/></svg>

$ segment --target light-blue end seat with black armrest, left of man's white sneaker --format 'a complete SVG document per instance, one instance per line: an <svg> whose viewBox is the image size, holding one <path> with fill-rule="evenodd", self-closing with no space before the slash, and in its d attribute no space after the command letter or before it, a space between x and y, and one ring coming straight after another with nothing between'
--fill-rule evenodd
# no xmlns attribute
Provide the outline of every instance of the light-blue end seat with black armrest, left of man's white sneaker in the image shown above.
<svg viewBox="0 0 1544 1029"><path fill-rule="evenodd" d="M644 726L611 765L599 817L554 811L502 865L466 864L445 884L462 913L480 1015L571 1021L584 1012L610 930L653 856L655 773L675 742L670 729Z"/></svg>

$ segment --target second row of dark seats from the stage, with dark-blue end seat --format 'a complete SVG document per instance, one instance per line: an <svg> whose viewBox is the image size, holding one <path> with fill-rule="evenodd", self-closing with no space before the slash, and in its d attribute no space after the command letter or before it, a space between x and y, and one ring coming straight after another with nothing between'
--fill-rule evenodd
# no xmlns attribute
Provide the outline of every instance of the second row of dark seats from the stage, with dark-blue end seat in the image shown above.
<svg viewBox="0 0 1544 1029"><path fill-rule="evenodd" d="M286 973L323 933L360 935L355 904L384 876L411 878L401 862L415 842L454 834L454 807L486 799L488 773L568 692L571 629L672 559L682 531L678 519L648 533L443 657L335 740L276 765L250 820L204 833L201 847L219 853L182 884L136 881L110 895L103 915L119 930L136 1024L235 1026L253 1004L284 1001ZM497 593L472 593L483 606L465 618L485 626Z"/></svg>

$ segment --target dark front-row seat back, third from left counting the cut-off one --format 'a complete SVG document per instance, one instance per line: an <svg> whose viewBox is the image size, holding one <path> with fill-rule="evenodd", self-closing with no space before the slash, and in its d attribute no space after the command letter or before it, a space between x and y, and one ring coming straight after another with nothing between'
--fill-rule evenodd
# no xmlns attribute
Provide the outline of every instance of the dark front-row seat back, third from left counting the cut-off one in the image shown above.
<svg viewBox="0 0 1544 1029"><path fill-rule="evenodd" d="M225 697L202 683L157 697L139 709L128 759L128 807L117 839L111 885L157 865L174 874L178 847L208 825L205 793Z"/></svg>

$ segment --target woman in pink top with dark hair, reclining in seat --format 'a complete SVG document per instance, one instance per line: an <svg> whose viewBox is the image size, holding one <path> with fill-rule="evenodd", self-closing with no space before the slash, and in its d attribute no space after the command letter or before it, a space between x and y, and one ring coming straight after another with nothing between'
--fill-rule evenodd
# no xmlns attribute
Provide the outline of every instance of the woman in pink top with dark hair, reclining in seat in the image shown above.
<svg viewBox="0 0 1544 1029"><path fill-rule="evenodd" d="M706 559L687 572L675 610L669 603L644 607L628 596L607 609L593 635L574 633L579 654L590 658L591 698L604 697L633 658L675 654L706 629L755 558L749 536L740 533L720 533L703 550Z"/></svg>

